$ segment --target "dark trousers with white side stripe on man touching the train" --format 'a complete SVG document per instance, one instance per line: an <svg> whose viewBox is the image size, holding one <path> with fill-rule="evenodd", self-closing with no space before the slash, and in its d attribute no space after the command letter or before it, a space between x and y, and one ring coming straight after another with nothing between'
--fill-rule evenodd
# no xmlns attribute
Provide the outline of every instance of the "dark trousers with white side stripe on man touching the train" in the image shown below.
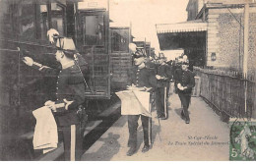
<svg viewBox="0 0 256 164"><path fill-rule="evenodd" d="M83 136L79 125L61 127L65 160L80 161L83 154Z"/></svg>

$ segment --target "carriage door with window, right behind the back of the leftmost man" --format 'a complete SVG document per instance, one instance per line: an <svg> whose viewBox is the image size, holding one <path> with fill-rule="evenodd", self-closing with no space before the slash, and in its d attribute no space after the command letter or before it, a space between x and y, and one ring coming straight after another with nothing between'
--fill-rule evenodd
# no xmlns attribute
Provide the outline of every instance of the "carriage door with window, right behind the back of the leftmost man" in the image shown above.
<svg viewBox="0 0 256 164"><path fill-rule="evenodd" d="M88 98L110 97L108 28L106 10L80 10L78 40L81 54L86 58L91 70L91 90Z"/></svg>

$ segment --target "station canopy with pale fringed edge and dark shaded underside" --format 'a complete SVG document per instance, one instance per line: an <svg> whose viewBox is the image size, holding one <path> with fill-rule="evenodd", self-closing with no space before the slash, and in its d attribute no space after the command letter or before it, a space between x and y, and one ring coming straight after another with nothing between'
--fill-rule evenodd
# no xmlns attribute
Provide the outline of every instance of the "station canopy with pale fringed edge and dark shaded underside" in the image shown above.
<svg viewBox="0 0 256 164"><path fill-rule="evenodd" d="M160 50L183 49L190 66L205 66L207 23L201 20L157 25ZM171 54L172 59L175 58Z"/></svg>

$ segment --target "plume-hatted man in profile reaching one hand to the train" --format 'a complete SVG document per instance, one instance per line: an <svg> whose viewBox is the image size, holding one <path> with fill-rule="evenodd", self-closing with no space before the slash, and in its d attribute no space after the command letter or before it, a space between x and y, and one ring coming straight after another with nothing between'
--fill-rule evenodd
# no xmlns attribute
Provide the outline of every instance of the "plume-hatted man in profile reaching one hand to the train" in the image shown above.
<svg viewBox="0 0 256 164"><path fill-rule="evenodd" d="M52 110L58 129L62 130L65 160L80 160L83 132L78 114L85 101L86 80L83 73L88 75L88 64L76 54L75 44L71 38L59 37L54 40L52 37L58 35L55 29L50 29L48 35L50 42L57 43L55 58L62 69L43 66L30 57L25 57L24 62L43 74L57 76L56 97L46 101L44 105Z"/></svg>

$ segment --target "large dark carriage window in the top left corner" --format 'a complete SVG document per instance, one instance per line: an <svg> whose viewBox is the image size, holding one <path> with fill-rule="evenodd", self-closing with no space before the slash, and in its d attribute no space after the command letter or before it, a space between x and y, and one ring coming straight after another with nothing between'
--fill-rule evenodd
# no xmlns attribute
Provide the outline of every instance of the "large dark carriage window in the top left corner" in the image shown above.
<svg viewBox="0 0 256 164"><path fill-rule="evenodd" d="M8 38L32 41L35 37L35 5L33 0L2 0L1 34Z"/></svg>

